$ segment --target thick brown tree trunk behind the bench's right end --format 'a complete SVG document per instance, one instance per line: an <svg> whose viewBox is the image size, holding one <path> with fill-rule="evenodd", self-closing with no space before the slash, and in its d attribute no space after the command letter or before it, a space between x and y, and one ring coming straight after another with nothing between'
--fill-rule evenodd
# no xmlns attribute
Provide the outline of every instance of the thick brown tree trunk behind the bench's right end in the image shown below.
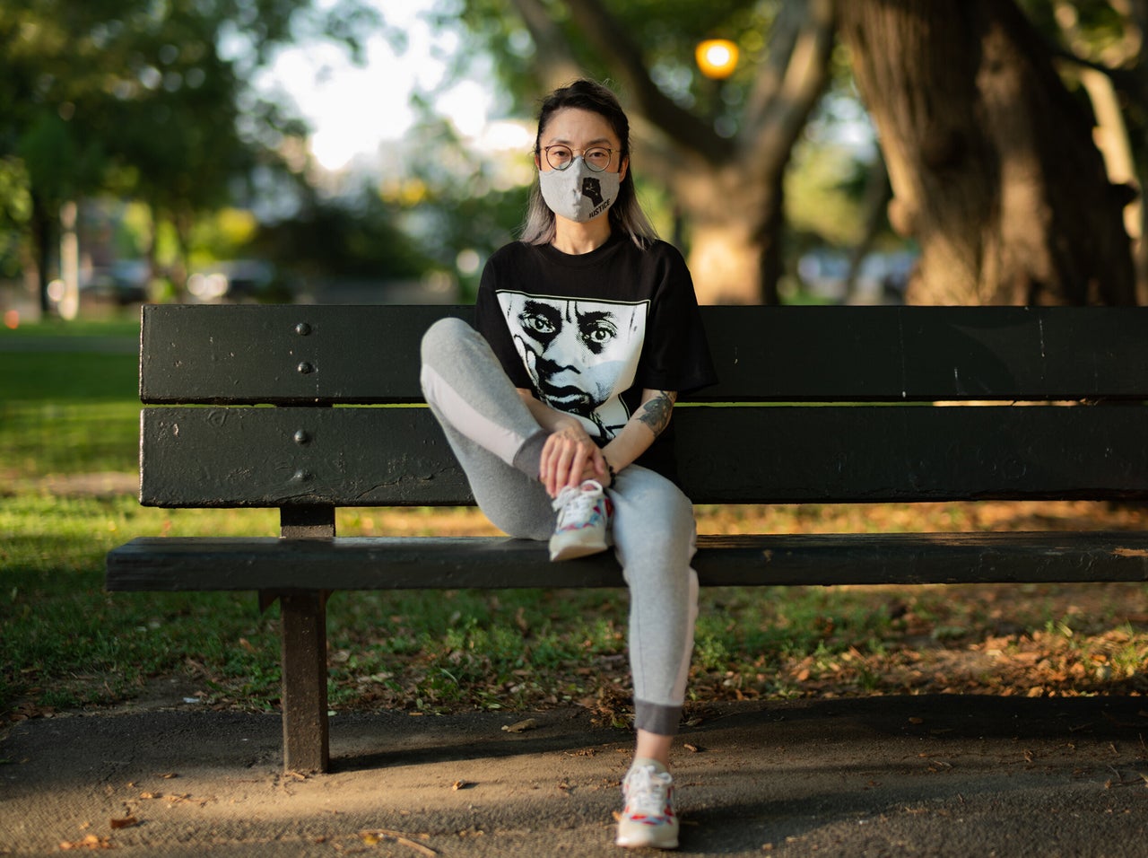
<svg viewBox="0 0 1148 858"><path fill-rule="evenodd" d="M1132 304L1127 198L1014 0L848 0L913 303Z"/></svg>

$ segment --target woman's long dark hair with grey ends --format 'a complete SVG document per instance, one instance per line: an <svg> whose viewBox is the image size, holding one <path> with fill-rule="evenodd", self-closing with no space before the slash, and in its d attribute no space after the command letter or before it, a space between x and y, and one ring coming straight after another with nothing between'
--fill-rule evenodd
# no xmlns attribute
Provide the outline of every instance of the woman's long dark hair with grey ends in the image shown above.
<svg viewBox="0 0 1148 858"><path fill-rule="evenodd" d="M621 159L630 156L630 121L622 110L618 96L607 86L594 80L575 80L554 90L542 101L538 111L538 133L534 139L534 154L542 155L542 134L551 117L568 107L589 110L604 118L622 144ZM658 239L658 232L646 218L638 203L637 191L634 188L633 163L626 170L618 191L618 200L610 207L610 225L629 235L641 248L646 248ZM528 245L549 245L554 239L554 212L542 199L538 183L530 188L530 203L526 210L526 223L522 226L521 240Z"/></svg>

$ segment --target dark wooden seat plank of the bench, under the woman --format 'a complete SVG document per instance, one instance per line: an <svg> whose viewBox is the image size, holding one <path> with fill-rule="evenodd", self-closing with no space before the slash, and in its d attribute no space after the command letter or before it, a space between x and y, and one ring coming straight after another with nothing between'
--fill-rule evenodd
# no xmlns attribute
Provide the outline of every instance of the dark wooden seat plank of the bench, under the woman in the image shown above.
<svg viewBox="0 0 1148 858"><path fill-rule="evenodd" d="M705 586L1148 581L1125 532L761 534L698 539ZM540 567L545 578L540 578ZM110 590L621 587L612 552L549 564L506 538L139 538L108 555Z"/></svg>

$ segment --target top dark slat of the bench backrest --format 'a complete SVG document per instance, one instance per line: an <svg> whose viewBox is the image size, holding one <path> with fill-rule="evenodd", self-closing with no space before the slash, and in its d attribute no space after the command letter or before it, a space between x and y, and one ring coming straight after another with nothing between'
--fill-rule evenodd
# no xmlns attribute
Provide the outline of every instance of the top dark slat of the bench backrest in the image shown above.
<svg viewBox="0 0 1148 858"><path fill-rule="evenodd" d="M419 401L419 340L443 315L473 308L146 306L141 399ZM721 384L700 401L1148 392L1148 308L704 307L703 319Z"/></svg>

